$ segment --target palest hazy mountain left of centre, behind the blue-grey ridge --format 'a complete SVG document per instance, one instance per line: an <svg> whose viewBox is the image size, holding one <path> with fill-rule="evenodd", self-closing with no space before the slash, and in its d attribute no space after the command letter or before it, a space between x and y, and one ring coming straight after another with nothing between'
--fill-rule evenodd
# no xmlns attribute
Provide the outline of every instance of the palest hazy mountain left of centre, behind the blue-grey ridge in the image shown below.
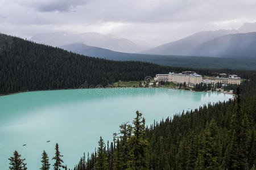
<svg viewBox="0 0 256 170"><path fill-rule="evenodd" d="M127 39L119 38L114 35L103 35L96 32L86 32L79 34L67 32L41 33L39 35L33 36L31 40L52 46L85 44L127 53L135 53L148 48L148 44L141 46Z"/></svg>

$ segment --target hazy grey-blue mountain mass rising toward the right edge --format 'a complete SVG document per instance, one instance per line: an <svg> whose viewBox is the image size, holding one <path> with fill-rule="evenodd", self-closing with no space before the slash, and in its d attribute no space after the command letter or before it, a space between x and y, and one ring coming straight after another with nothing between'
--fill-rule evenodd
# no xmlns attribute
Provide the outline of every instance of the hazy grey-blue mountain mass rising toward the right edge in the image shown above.
<svg viewBox="0 0 256 170"><path fill-rule="evenodd" d="M255 41L253 41L253 39L255 40L256 37L250 37L254 36L254 34L243 34L243 36L236 35L237 33L255 31L256 23L245 23L239 29L197 32L184 39L156 46L155 48L145 50L141 53L208 57L256 57L256 53L250 51L250 48L244 50L247 45L249 47L255 47ZM221 44L218 44L219 42ZM207 48L207 50L205 48ZM210 50L210 52L208 50Z"/></svg>

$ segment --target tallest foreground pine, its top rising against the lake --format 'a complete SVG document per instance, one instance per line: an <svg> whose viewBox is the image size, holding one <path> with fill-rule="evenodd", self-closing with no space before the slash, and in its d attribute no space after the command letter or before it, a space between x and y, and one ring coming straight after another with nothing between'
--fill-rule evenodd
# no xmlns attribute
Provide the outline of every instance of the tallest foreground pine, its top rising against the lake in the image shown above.
<svg viewBox="0 0 256 170"><path fill-rule="evenodd" d="M145 119L142 118L142 113L136 112L137 117L133 121L133 135L129 139L130 162L128 169L148 169L148 152L147 138L145 134Z"/></svg>

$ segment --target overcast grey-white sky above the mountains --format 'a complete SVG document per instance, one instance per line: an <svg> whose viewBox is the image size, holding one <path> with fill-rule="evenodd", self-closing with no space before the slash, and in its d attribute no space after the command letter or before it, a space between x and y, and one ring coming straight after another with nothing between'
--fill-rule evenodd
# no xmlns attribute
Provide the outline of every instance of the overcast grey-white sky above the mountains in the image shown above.
<svg viewBox="0 0 256 170"><path fill-rule="evenodd" d="M159 45L256 22L255 0L0 0L0 32L98 32Z"/></svg>

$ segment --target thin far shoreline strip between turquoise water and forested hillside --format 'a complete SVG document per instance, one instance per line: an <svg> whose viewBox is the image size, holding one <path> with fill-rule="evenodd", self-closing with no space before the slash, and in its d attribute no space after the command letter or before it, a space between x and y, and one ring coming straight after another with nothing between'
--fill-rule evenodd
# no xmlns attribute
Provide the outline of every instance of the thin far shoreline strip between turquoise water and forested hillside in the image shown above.
<svg viewBox="0 0 256 170"><path fill-rule="evenodd" d="M94 87L96 88L96 87ZM94 88L82 88L82 89L94 89ZM109 88L109 87L103 87L103 88ZM171 88L171 87L112 87L112 88L170 88L171 90L180 90L180 91L189 91L189 92L218 92L221 94L228 94L232 95L235 97L236 95L233 93L229 93L226 91L195 91L195 90L184 90L184 89L179 89L179 88ZM54 90L79 90L80 88L56 88L56 89L48 89L48 90L27 90L27 91L19 91L19 92L13 92L9 94L0 94L1 96L9 96L9 95L15 95L15 94L20 94L23 92L36 92L36 91L54 91Z"/></svg>

